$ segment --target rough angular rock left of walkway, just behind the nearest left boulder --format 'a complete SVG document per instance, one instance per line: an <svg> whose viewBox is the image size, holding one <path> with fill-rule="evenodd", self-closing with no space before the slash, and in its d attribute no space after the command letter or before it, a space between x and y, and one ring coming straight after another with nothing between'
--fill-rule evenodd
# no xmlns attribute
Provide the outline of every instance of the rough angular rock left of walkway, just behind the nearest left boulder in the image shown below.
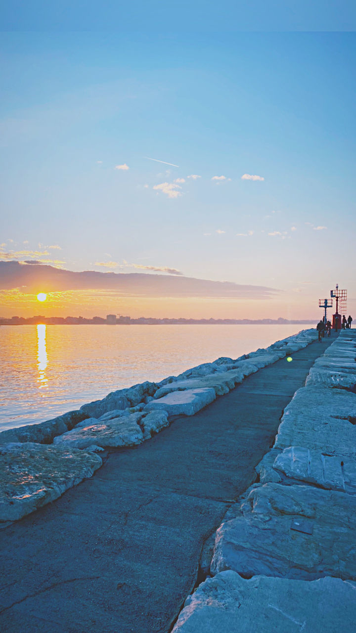
<svg viewBox="0 0 356 633"><path fill-rule="evenodd" d="M136 446L143 442L143 432L139 427L141 413L132 413L127 417L100 421L89 418L75 429L54 438L56 446L70 448L88 448L92 444L101 448L118 446Z"/></svg>

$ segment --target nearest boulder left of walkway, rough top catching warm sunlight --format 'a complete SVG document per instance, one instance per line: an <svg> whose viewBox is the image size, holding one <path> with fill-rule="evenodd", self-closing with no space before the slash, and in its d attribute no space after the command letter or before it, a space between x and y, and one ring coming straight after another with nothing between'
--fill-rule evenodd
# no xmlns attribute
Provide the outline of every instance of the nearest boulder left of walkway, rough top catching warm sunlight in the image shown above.
<svg viewBox="0 0 356 633"><path fill-rule="evenodd" d="M0 522L15 521L58 499L101 466L93 453L32 442L0 446Z"/></svg>

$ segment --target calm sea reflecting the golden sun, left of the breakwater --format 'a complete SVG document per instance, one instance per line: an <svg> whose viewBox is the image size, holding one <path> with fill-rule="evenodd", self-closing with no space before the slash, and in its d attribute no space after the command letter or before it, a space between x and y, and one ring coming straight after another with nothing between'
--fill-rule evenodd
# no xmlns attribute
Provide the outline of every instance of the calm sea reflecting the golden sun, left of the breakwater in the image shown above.
<svg viewBox="0 0 356 633"><path fill-rule="evenodd" d="M43 422L110 391L219 356L238 358L310 325L0 327L0 429Z"/></svg>

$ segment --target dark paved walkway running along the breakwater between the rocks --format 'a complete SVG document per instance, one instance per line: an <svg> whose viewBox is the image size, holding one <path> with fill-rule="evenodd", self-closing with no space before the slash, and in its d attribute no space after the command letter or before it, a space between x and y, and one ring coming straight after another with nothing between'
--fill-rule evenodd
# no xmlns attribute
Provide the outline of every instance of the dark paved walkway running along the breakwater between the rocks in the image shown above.
<svg viewBox="0 0 356 633"><path fill-rule="evenodd" d="M3 633L168 633L203 542L255 479L324 339L246 378L0 531Z"/></svg>

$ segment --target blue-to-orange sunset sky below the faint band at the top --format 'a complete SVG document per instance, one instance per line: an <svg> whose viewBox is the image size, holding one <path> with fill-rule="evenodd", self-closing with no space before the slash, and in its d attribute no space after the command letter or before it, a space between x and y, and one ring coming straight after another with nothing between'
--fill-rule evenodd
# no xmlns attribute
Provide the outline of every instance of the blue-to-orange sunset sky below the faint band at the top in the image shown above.
<svg viewBox="0 0 356 633"><path fill-rule="evenodd" d="M334 32L22 18L0 34L0 316L319 319L336 284L356 312L353 16Z"/></svg>

